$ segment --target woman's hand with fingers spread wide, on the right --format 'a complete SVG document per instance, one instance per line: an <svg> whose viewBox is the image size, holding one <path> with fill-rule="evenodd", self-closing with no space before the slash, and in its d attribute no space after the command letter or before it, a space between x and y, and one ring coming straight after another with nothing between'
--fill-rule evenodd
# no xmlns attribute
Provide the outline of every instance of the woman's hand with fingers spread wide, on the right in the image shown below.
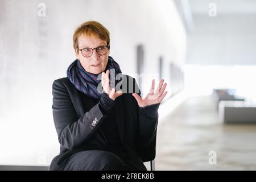
<svg viewBox="0 0 256 182"><path fill-rule="evenodd" d="M160 103L167 94L167 91L164 92L167 84L166 83L163 84L163 83L164 83L164 80L162 79L159 82L158 89L155 91L155 79L152 80L150 92L147 94L147 96L144 99L142 99L137 93L133 93L133 96L137 100L139 107Z"/></svg>

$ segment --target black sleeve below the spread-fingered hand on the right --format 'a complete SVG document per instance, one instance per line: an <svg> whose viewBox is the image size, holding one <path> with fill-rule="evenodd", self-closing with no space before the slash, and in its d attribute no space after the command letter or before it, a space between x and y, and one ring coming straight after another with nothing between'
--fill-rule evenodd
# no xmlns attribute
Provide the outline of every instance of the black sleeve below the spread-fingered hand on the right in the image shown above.
<svg viewBox="0 0 256 182"><path fill-rule="evenodd" d="M138 84L135 81L135 90L138 89ZM137 89L136 89L137 87ZM141 91L139 91L141 96ZM132 96L133 97L133 96ZM156 137L156 129L158 126L158 107L160 104L139 107L134 98L135 107L137 110L137 118L139 121L138 143L140 148L148 147Z"/></svg>

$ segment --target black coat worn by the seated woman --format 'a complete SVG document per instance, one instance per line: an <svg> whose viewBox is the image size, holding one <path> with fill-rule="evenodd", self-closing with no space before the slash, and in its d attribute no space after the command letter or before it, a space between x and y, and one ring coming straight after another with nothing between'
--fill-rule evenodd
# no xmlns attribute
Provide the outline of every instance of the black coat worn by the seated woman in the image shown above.
<svg viewBox="0 0 256 182"><path fill-rule="evenodd" d="M123 78L120 87L123 94L115 99L113 106L122 143L121 158L135 168L143 169L143 162L155 158L158 114L154 118L143 114L142 110L150 106L139 107L132 94L127 93L131 82L135 86L133 92L139 90L135 79L127 75L123 75ZM104 145L104 140L99 126L106 115L100 110L98 102L77 90L68 77L53 82L52 94L53 120L60 143L60 154L52 160L49 169L61 170L69 156L75 152L104 150L100 147L101 144ZM92 125L95 118L97 123ZM98 147L93 141L97 141Z"/></svg>

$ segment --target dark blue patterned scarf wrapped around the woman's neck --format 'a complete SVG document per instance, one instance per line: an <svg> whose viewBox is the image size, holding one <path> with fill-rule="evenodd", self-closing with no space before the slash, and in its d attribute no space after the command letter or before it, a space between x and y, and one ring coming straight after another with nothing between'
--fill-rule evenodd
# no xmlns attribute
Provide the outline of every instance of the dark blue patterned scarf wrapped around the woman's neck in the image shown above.
<svg viewBox="0 0 256 182"><path fill-rule="evenodd" d="M110 74L111 69L114 69L115 76L118 73L122 73L119 65L117 64L117 62L114 61L111 56L109 56L108 64L104 72L106 72L108 69L110 71ZM80 61L77 59L73 61L73 63L71 63L71 65L69 65L67 69L67 76L72 84L75 85L76 89L80 90L82 93L85 93L87 96L96 99L100 99L101 97L101 93L97 90L98 84L100 84L101 82L101 75L99 78L98 75L86 72L84 67L82 67ZM115 85L119 81L120 80L115 80ZM113 88L115 85L112 84L110 85L110 87Z"/></svg>

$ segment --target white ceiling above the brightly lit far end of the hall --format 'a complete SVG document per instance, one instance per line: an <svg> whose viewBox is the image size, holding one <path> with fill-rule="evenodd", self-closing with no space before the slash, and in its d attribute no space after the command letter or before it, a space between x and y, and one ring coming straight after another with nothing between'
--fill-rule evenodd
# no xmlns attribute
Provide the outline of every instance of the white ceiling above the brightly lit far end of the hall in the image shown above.
<svg viewBox="0 0 256 182"><path fill-rule="evenodd" d="M187 2L188 64L256 64L256 0ZM209 16L210 3L216 4L217 16Z"/></svg>

